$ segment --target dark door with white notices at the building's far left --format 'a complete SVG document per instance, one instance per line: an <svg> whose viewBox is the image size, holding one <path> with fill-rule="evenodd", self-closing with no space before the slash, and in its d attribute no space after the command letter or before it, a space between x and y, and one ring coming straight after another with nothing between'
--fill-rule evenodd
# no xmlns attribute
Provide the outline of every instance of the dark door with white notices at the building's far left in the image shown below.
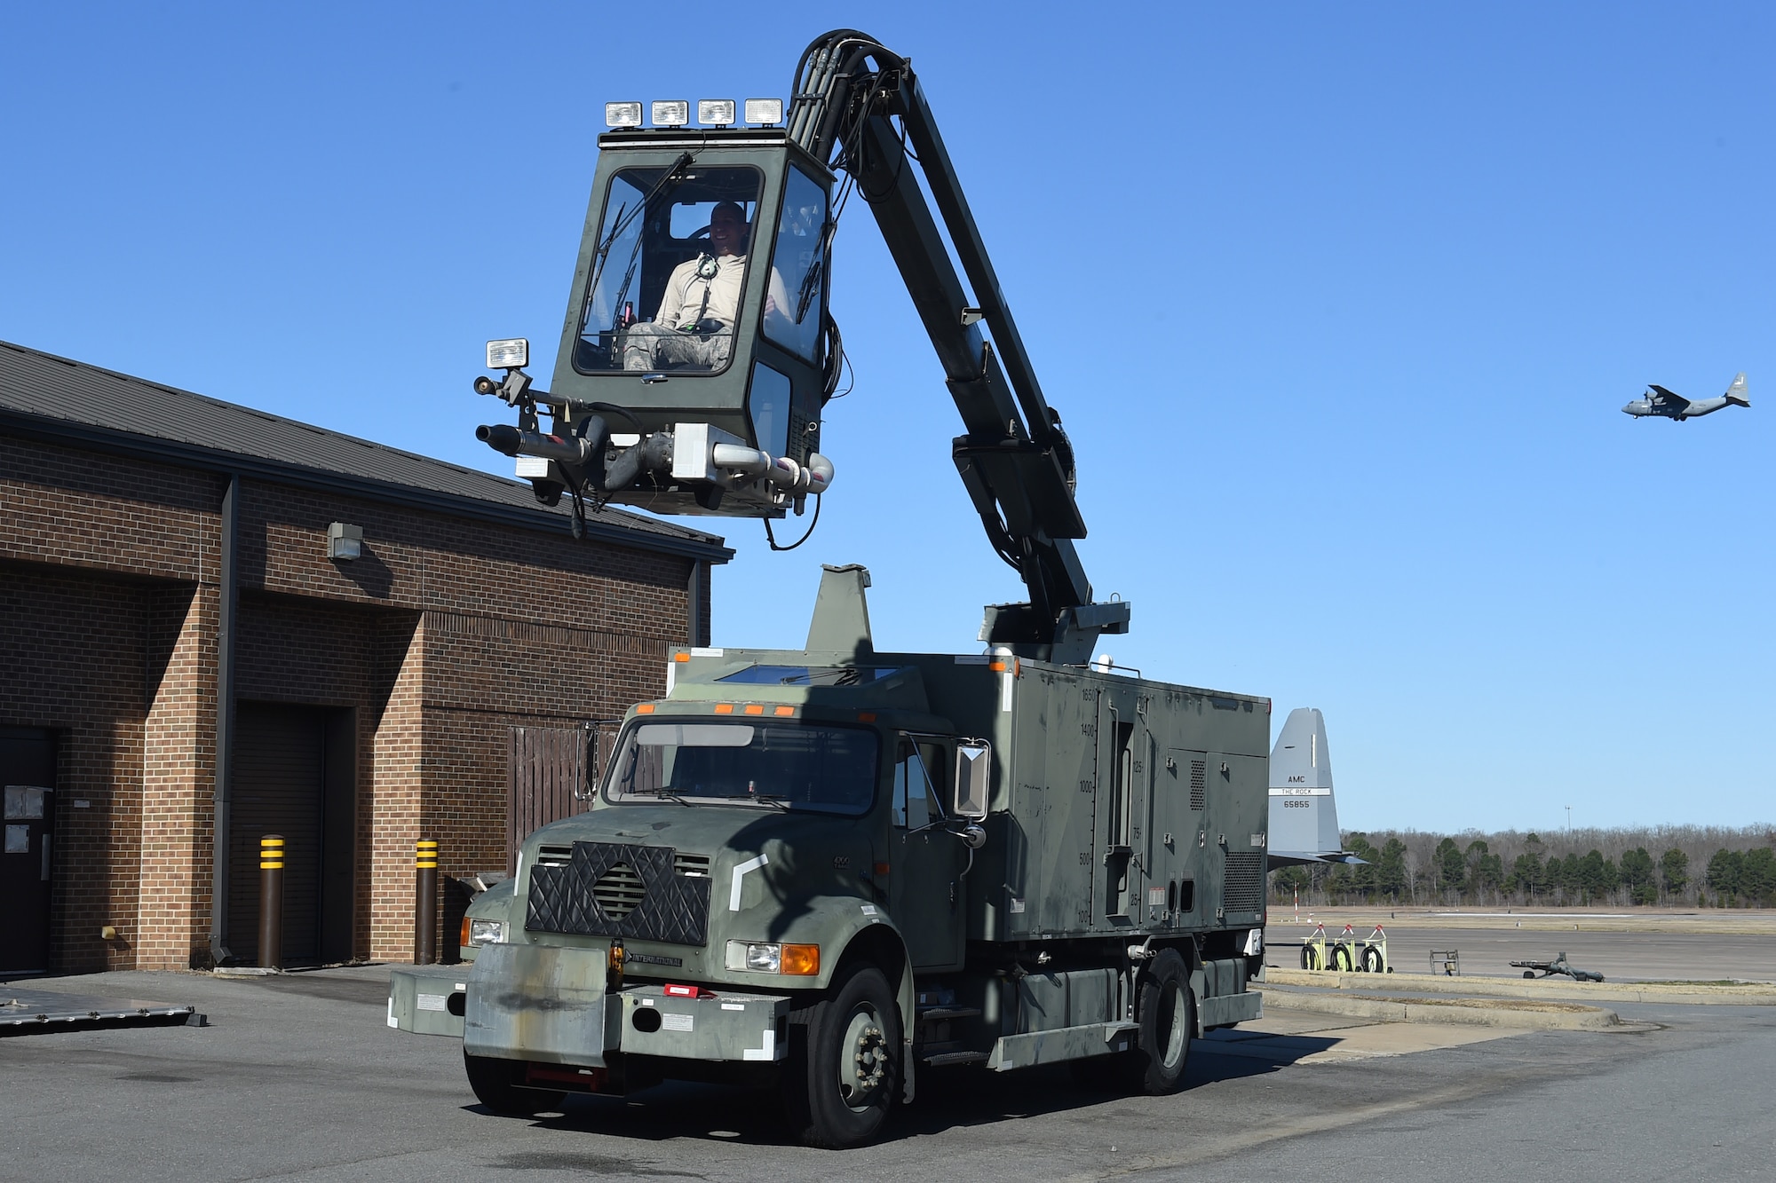
<svg viewBox="0 0 1776 1183"><path fill-rule="evenodd" d="M55 854L55 737L39 728L0 728L0 783L5 785L0 977L46 973Z"/></svg>

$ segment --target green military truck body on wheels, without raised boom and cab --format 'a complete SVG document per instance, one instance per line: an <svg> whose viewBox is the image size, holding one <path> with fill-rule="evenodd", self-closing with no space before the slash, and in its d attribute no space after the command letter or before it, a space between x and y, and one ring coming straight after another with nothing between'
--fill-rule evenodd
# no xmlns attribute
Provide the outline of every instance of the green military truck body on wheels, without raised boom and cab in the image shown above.
<svg viewBox="0 0 1776 1183"><path fill-rule="evenodd" d="M1270 703L1009 652L881 654L858 567L806 650L686 648L591 808L396 968L497 1112L666 1078L868 1139L918 1073L1078 1060L1170 1092L1257 1018Z"/></svg>

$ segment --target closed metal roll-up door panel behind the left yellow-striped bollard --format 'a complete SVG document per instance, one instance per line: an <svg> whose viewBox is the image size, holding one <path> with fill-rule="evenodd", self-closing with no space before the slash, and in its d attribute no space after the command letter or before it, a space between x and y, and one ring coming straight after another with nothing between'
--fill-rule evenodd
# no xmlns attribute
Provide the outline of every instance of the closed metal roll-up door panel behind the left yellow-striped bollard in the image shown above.
<svg viewBox="0 0 1776 1183"><path fill-rule="evenodd" d="M234 707L227 945L259 961L259 838L284 838L284 965L320 961L327 711Z"/></svg>

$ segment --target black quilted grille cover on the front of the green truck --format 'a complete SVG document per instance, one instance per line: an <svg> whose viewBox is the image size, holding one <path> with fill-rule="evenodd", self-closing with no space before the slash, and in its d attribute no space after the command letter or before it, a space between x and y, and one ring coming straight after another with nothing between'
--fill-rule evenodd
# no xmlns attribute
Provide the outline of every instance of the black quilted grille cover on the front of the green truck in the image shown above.
<svg viewBox="0 0 1776 1183"><path fill-rule="evenodd" d="M677 874L673 854L670 846L575 842L565 867L531 869L524 927L531 933L702 945L709 940L709 876ZM625 863L641 879L641 899L622 917L607 913L593 890L616 863Z"/></svg>

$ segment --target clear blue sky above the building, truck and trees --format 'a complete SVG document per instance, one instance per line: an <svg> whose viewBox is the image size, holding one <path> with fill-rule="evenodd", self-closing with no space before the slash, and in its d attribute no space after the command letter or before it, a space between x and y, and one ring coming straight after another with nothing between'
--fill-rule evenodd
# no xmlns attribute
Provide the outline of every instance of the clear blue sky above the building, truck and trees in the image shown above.
<svg viewBox="0 0 1776 1183"><path fill-rule="evenodd" d="M602 103L787 96L858 25L1078 448L1101 648L1323 709L1346 828L1776 817L1765 5L158 9L5 18L4 339L506 471L469 380L552 369ZM728 524L714 639L797 645L861 561L879 645L971 652L1021 586L861 202L833 313L819 533Z"/></svg>

